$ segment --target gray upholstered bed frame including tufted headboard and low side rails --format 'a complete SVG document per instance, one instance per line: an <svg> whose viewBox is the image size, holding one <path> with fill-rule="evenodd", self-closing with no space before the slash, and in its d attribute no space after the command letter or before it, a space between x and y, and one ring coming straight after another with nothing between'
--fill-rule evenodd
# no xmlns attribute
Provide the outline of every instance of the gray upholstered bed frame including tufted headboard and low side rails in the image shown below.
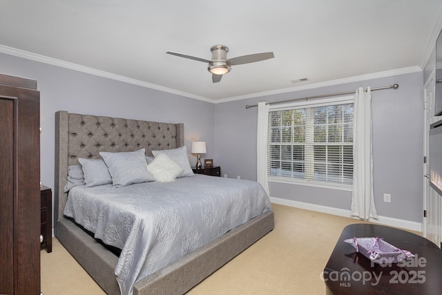
<svg viewBox="0 0 442 295"><path fill-rule="evenodd" d="M66 111L55 113L55 237L107 294L119 294L118 257L73 221L64 218L68 166L100 151L175 149L184 145L184 124L126 120ZM262 213L224 236L135 283L133 294L184 294L273 229L273 211Z"/></svg>

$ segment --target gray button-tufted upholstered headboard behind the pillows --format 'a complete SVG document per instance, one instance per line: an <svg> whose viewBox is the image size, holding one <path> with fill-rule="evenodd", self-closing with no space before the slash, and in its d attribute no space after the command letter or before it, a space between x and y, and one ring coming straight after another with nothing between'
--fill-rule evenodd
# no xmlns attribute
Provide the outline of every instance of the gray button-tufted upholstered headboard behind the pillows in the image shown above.
<svg viewBox="0 0 442 295"><path fill-rule="evenodd" d="M68 166L79 164L78 158L100 158L100 151L136 151L146 155L159 149L184 145L184 124L128 120L113 117L55 113L55 190L54 219L63 218L68 198L64 186Z"/></svg>

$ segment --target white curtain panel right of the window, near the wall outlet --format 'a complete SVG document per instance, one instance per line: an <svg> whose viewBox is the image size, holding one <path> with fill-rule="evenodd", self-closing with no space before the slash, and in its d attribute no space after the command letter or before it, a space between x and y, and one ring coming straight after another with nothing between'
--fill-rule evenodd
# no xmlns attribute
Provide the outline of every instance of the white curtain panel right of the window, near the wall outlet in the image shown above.
<svg viewBox="0 0 442 295"><path fill-rule="evenodd" d="M372 155L372 90L358 88L354 95L352 215L378 218L374 207Z"/></svg>

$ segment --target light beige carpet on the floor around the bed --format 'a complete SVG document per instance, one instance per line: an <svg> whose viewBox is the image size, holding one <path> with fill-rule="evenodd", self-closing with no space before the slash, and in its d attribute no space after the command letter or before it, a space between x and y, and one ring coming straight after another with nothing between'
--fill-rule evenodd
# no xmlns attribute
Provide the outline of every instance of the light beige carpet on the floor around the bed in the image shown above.
<svg viewBox="0 0 442 295"><path fill-rule="evenodd" d="M325 294L320 275L343 231L359 220L273 204L275 229L188 294ZM52 238L41 250L41 292L105 294L73 256Z"/></svg>

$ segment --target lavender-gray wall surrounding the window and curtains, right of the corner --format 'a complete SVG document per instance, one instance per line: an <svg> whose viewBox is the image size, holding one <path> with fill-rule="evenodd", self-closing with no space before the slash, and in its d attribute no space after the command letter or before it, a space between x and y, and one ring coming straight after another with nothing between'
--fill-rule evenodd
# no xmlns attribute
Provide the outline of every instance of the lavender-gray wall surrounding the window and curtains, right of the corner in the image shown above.
<svg viewBox="0 0 442 295"><path fill-rule="evenodd" d="M372 95L374 198L378 215L422 222L423 212L423 73L412 73L256 97L215 105L215 159L230 178L256 180L257 108L247 104L352 91L360 86L399 84ZM350 209L352 193L271 182L270 196ZM383 193L392 202L383 202Z"/></svg>

